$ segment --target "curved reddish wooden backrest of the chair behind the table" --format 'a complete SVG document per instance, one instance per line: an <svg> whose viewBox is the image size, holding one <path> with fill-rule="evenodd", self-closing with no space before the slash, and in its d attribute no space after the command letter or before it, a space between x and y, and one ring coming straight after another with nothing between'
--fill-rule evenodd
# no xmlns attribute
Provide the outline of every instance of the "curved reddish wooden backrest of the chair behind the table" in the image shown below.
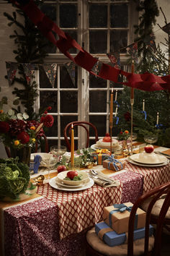
<svg viewBox="0 0 170 256"><path fill-rule="evenodd" d="M97 142L98 132L97 132L97 127L95 127L94 124L91 124L88 121L72 121L71 123L67 124L66 127L63 130L63 134L64 134L64 138L65 138L65 141L66 141L66 146L67 146L68 151L71 151L71 142L70 142L71 124L73 124L73 127L80 126L80 127L83 127L86 130L86 148L89 147L89 128L90 127L92 129L94 129L95 142ZM75 147L75 150L76 150L76 147Z"/></svg>

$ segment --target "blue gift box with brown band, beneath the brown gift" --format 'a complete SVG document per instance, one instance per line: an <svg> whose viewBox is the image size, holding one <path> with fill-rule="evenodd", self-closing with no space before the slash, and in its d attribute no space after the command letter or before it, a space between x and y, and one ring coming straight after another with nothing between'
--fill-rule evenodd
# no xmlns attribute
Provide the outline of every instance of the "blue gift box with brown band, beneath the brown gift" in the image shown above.
<svg viewBox="0 0 170 256"><path fill-rule="evenodd" d="M108 244L110 247L116 245L124 244L126 241L126 234L117 234L116 231L111 229L106 223L101 222L95 225L95 231L102 241ZM149 235L153 234L153 226L149 226ZM145 237L145 228L135 229L134 231L134 240L141 239Z"/></svg>

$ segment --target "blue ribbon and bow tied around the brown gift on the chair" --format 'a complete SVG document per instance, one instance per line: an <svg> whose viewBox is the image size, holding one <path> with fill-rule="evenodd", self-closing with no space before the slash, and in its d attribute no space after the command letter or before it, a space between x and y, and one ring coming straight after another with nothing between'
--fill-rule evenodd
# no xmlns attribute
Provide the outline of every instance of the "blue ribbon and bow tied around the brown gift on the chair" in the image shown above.
<svg viewBox="0 0 170 256"><path fill-rule="evenodd" d="M114 206L114 208L117 208L117 209L116 210L111 210L109 212L109 226L110 227L112 227L112 214L113 213L118 213L118 212L123 213L123 212L125 212L125 210L128 210L130 212L133 208L133 206L126 206L123 203L122 204L115 204L113 206ZM138 214L137 213L135 214L135 224L134 225L135 225L134 229L137 229L137 227L138 227Z"/></svg>

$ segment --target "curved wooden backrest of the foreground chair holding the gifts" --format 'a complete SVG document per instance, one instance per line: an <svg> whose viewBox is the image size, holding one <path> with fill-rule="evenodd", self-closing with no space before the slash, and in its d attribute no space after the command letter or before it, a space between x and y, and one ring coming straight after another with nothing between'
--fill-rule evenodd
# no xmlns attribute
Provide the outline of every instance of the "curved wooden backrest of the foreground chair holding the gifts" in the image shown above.
<svg viewBox="0 0 170 256"><path fill-rule="evenodd" d="M151 210L156 200L158 200L161 195L166 195L164 204L161 207L161 211L158 215L158 221L156 225L156 234L155 234L155 242L153 246L153 255L158 256L161 255L161 232L164 226L164 219L167 211L170 207L170 182L161 185L160 187L156 187L155 189L147 192L145 195L142 195L133 205L133 208L130 213L129 219L129 228L128 228L128 256L133 255L133 231L134 231L134 223L135 223L135 213L140 205L145 202L148 198L151 198L151 201L148 205L148 210L146 212L146 234L145 234L145 252L144 255L148 255L148 239L149 239L149 224L151 222Z"/></svg>

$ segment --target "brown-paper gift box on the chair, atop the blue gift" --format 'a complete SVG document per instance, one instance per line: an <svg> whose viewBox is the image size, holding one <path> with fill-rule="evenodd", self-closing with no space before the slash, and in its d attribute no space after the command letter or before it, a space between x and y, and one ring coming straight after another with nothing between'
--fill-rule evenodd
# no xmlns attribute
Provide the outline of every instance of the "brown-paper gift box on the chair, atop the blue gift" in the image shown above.
<svg viewBox="0 0 170 256"><path fill-rule="evenodd" d="M128 232L130 208L133 204L125 202L121 205L111 205L104 208L103 219L107 225L114 229L117 234ZM120 209L118 209L120 208ZM127 208L128 210L123 210ZM146 212L138 208L135 215L135 229L141 229L146 225Z"/></svg>

